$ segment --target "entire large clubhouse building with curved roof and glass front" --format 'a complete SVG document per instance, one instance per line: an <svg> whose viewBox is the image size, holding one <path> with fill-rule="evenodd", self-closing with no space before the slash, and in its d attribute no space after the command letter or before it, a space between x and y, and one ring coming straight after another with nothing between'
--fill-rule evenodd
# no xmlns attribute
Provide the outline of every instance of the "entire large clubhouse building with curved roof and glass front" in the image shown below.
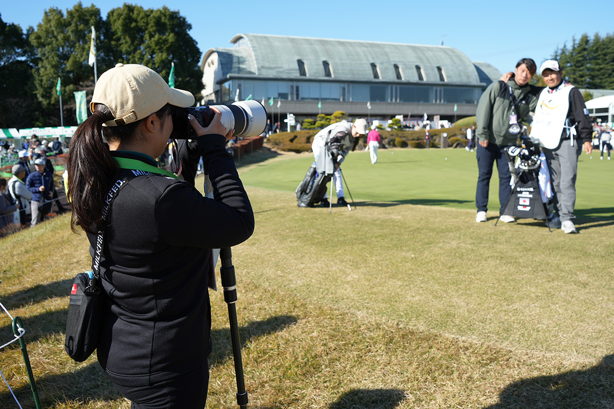
<svg viewBox="0 0 614 409"><path fill-rule="evenodd" d="M481 93L501 76L444 46L265 34L237 34L230 43L204 53L201 104L255 99L298 120L337 110L453 120L475 115Z"/></svg>

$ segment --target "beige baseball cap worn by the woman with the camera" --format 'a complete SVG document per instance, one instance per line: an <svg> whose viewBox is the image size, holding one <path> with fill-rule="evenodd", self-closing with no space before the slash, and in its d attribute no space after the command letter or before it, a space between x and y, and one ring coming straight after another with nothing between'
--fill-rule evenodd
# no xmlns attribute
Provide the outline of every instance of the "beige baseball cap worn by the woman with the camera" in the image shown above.
<svg viewBox="0 0 614 409"><path fill-rule="evenodd" d="M98 78L90 110L104 104L111 110L112 121L104 126L124 125L149 117L166 104L187 108L194 105L189 91L168 86L160 74L139 64L117 64Z"/></svg>

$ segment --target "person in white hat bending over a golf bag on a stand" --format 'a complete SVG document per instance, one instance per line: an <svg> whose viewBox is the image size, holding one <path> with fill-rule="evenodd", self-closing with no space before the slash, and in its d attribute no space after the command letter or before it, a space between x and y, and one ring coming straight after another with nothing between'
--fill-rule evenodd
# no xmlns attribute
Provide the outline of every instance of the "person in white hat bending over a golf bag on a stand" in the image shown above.
<svg viewBox="0 0 614 409"><path fill-rule="evenodd" d="M356 149L359 137L361 135L367 135L367 128L367 120L365 120L365 118L359 118L354 121L354 123L344 120L328 125L326 128L317 132L316 136L313 137L311 150L313 151L313 156L316 158L316 161L321 155L334 155L332 158L333 161L335 161L333 183L335 184L335 191L337 194L337 204L340 206L345 207L348 205L348 202L344 197L343 180L339 165L344 161L350 149ZM333 151L330 150L330 147L334 147ZM324 194L324 198L320 205L322 207L328 207L330 205L327 194Z"/></svg>

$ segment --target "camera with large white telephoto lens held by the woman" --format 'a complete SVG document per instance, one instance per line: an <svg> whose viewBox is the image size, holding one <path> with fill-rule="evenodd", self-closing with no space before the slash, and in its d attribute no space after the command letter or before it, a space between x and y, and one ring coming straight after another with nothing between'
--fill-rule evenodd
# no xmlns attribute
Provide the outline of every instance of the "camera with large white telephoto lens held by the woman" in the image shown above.
<svg viewBox="0 0 614 409"><path fill-rule="evenodd" d="M215 107L222 113L220 121L228 133L231 129L235 132L233 136L258 136L262 134L266 127L266 109L258 101L237 101L230 105L211 105L195 108L173 107L171 117L173 118L173 139L196 139L196 132L188 121L188 114L193 115L196 121L204 128L209 126L216 112L211 108Z"/></svg>

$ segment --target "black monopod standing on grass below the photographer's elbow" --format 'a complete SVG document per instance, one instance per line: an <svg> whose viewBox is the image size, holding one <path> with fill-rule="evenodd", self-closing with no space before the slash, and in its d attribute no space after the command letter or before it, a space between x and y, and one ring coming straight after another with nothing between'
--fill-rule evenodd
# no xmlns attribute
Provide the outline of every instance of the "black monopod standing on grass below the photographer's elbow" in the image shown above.
<svg viewBox="0 0 614 409"><path fill-rule="evenodd" d="M243 361L241 360L241 340L239 340L239 324L236 320L236 277L235 266L232 265L232 253L230 247L220 249L220 277L224 288L224 301L228 304L228 318L230 319L230 338L232 342L232 353L235 357L236 373L236 403L239 408L247 408L247 392L243 379Z"/></svg>

